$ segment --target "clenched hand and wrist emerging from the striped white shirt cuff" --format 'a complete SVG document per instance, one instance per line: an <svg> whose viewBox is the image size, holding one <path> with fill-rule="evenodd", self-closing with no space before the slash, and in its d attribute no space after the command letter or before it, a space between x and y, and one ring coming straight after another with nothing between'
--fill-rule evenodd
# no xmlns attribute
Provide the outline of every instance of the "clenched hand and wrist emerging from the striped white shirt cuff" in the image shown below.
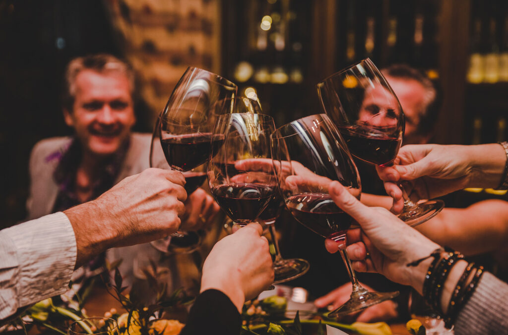
<svg viewBox="0 0 508 335"><path fill-rule="evenodd" d="M175 232L185 211L184 184L179 172L147 169L64 211L76 235L77 264L91 257L92 249L150 242Z"/></svg>

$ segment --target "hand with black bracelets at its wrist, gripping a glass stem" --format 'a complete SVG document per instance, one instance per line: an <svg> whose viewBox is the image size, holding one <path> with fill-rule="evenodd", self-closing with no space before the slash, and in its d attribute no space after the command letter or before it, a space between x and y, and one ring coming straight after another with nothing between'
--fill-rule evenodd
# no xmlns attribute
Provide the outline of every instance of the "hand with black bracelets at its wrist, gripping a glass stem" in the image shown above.
<svg viewBox="0 0 508 335"><path fill-rule="evenodd" d="M394 282L421 290L428 264L422 262L417 267L406 264L428 256L439 246L388 210L363 205L339 182L332 182L329 191L335 204L361 227L347 232L350 245L346 252L353 268L360 272L378 272ZM325 246L332 253L338 250L337 243L329 239Z"/></svg>

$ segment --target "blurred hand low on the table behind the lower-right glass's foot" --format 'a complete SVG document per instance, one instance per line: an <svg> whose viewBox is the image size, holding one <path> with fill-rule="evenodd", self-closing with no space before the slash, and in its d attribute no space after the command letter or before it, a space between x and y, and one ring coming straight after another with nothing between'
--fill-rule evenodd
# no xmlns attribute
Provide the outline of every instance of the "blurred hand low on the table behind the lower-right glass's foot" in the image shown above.
<svg viewBox="0 0 508 335"><path fill-rule="evenodd" d="M368 291L374 290L368 285L361 284ZM317 308L328 307L333 311L342 306L351 296L352 284L346 283L337 287L333 291L315 299L314 305ZM383 303L371 306L356 314L355 320L358 322L378 322L387 321L397 317L397 305L392 300L383 301Z"/></svg>

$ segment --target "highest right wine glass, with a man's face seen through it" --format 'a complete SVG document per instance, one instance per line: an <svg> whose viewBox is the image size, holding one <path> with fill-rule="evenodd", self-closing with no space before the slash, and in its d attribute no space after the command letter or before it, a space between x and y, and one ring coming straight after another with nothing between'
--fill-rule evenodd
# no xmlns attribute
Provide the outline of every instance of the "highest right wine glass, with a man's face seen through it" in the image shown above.
<svg viewBox="0 0 508 335"><path fill-rule="evenodd" d="M393 164L404 134L404 113L392 88L369 58L317 84L317 93L352 155L374 165ZM399 187L404 198L399 218L411 226L429 220L444 207L442 200L412 202L407 195L409 182L399 183Z"/></svg>

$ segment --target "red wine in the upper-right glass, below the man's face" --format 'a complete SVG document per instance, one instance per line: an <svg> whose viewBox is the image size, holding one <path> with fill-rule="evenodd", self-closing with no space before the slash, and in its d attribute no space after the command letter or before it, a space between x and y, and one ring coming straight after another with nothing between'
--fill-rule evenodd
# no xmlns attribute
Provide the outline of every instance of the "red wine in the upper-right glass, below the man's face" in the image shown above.
<svg viewBox="0 0 508 335"><path fill-rule="evenodd" d="M387 136L387 131L362 125L337 127L351 154L376 165L392 162L400 148L401 138Z"/></svg>

